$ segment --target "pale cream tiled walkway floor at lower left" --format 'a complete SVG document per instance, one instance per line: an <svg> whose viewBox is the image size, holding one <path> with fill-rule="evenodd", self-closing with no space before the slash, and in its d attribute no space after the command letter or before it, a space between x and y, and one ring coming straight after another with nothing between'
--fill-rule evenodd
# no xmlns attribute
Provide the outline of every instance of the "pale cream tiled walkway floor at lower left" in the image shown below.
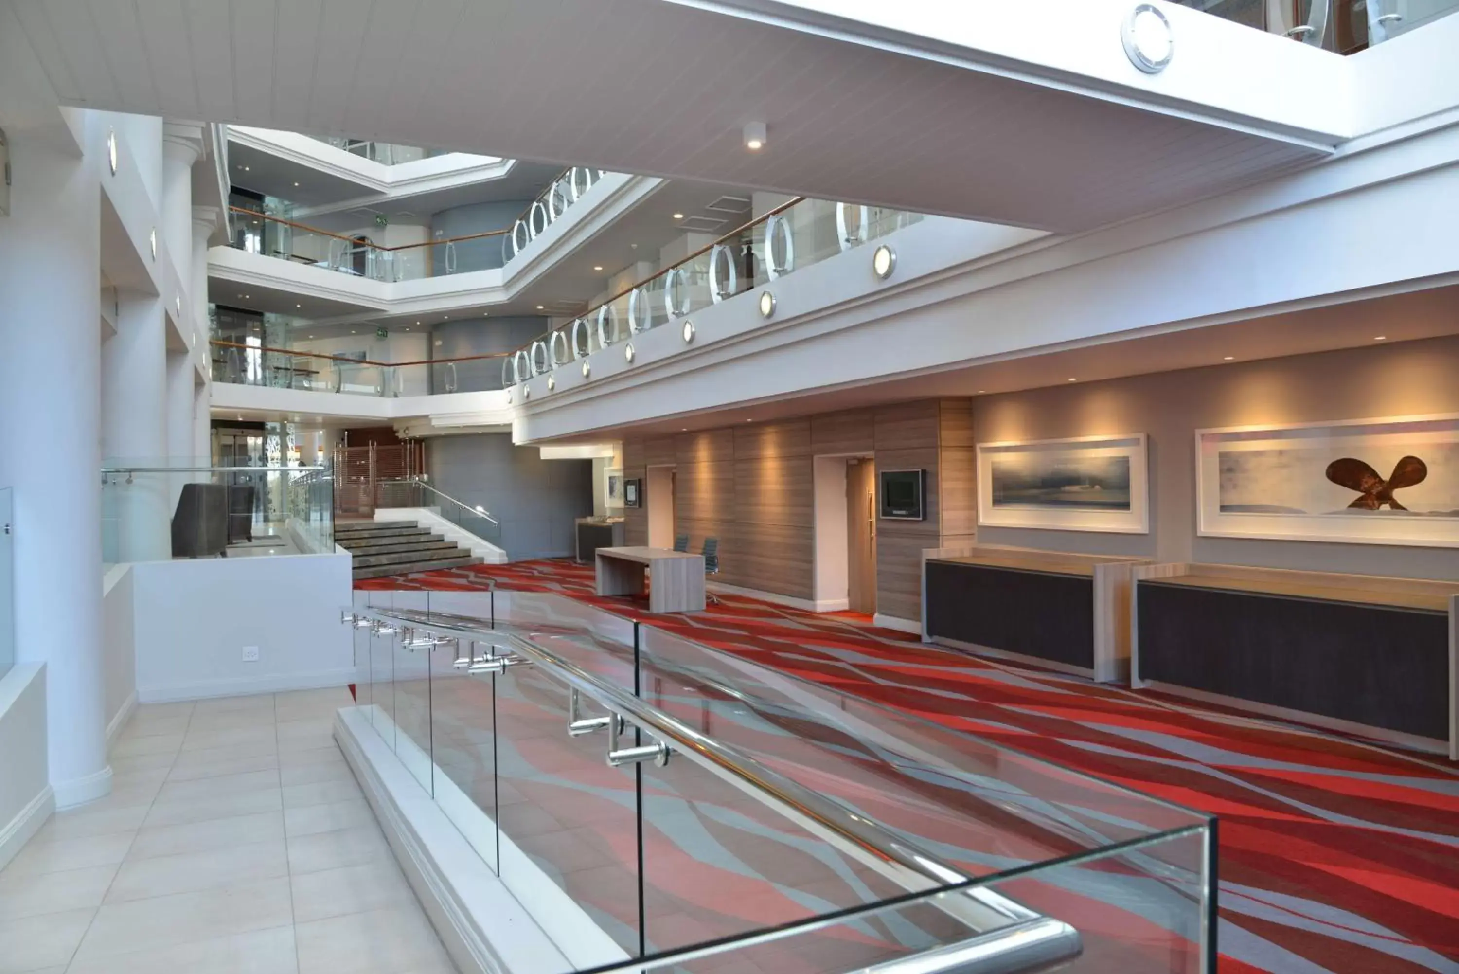
<svg viewBox="0 0 1459 974"><path fill-rule="evenodd" d="M140 707L0 872L0 974L455 971L334 743L349 691Z"/></svg>

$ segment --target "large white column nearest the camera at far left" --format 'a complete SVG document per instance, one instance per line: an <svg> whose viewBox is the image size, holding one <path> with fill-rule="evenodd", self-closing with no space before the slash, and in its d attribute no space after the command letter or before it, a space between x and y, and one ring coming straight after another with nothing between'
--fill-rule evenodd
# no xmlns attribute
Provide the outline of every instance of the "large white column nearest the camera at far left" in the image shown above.
<svg viewBox="0 0 1459 974"><path fill-rule="evenodd" d="M90 112L80 117L96 134ZM10 216L0 218L0 485L15 488L16 656L45 663L51 787L69 808L111 790L98 448L105 149L92 146L83 159L34 131L6 134L13 185Z"/></svg>

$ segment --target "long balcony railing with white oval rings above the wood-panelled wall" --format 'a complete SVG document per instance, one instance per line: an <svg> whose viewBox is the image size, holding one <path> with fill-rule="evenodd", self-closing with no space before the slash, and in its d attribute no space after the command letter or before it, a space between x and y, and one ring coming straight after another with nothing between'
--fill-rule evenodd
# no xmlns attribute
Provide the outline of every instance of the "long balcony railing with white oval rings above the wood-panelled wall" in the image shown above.
<svg viewBox="0 0 1459 974"><path fill-rule="evenodd" d="M797 197L521 346L502 362L502 386L627 345L670 321L681 323L684 342L692 342L689 315L921 219L921 213Z"/></svg>

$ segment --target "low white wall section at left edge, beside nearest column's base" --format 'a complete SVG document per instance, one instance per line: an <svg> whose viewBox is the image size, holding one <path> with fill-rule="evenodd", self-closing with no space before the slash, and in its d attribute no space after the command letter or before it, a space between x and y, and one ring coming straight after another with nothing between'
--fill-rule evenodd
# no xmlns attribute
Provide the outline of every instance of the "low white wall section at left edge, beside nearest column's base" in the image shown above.
<svg viewBox="0 0 1459 974"><path fill-rule="evenodd" d="M45 761L45 664L0 678L0 869L54 808Z"/></svg>

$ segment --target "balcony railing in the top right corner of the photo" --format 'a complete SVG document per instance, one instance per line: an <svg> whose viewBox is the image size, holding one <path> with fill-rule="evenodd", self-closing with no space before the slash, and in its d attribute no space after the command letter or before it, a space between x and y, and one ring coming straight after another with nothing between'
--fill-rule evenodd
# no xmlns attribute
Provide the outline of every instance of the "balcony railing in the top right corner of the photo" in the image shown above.
<svg viewBox="0 0 1459 974"><path fill-rule="evenodd" d="M1459 10L1459 0L1173 0L1339 54L1389 41Z"/></svg>

